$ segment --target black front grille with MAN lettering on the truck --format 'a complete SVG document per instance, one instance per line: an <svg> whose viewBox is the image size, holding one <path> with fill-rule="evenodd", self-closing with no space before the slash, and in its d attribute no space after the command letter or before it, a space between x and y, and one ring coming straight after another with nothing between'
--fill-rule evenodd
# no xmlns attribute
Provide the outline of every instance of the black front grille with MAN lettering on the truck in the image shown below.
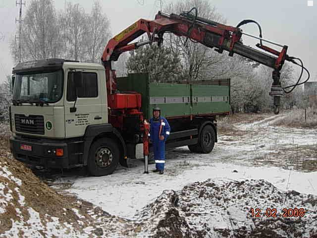
<svg viewBox="0 0 317 238"><path fill-rule="evenodd" d="M44 117L23 114L14 115L15 130L20 132L44 135Z"/></svg>

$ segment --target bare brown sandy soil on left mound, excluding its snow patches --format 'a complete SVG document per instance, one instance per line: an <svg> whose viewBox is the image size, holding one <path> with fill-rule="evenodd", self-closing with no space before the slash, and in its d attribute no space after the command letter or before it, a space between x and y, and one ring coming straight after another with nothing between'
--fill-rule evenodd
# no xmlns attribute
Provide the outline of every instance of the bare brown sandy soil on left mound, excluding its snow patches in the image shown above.
<svg viewBox="0 0 317 238"><path fill-rule="evenodd" d="M22 181L22 185L19 186L18 189L20 194L24 196L25 206L22 206L19 202L18 193L15 190L16 184L0 176L0 183L6 184L7 190L11 190L13 196L12 202L5 208L6 212L0 214L0 234L11 229L12 220L21 220L16 208L19 208L22 212L23 222L25 223L30 218L26 210L27 207L32 207L37 211L43 221L46 220L46 214L48 214L50 217L58 217L61 224L72 224L72 226L79 231L82 229L82 225L78 223L78 217L73 212L73 208L79 210L79 214L85 217L85 219L82 219L85 226L93 222L91 215L88 215L88 211L93 210L91 203L80 200L70 194L58 194L56 190L36 177L24 164L10 158L12 158L12 156L7 149L0 149L1 166L9 168L12 175ZM6 191L4 191L4 193L6 193Z"/></svg>

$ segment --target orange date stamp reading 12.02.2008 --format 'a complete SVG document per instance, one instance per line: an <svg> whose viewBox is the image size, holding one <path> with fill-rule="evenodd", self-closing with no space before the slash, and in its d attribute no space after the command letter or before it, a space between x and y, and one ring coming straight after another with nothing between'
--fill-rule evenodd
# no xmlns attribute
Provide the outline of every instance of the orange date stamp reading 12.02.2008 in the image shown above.
<svg viewBox="0 0 317 238"><path fill-rule="evenodd" d="M276 208L253 208L249 210L251 217L304 217L304 208L282 208L281 212L277 211Z"/></svg>

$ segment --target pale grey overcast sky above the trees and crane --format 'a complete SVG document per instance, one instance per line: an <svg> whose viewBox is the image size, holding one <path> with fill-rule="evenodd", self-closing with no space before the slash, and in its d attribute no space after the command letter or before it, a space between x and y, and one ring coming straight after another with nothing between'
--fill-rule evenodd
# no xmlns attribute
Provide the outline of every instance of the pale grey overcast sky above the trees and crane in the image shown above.
<svg viewBox="0 0 317 238"><path fill-rule="evenodd" d="M9 51L9 42L17 27L18 0L0 0L0 82L10 75L14 63ZM24 0L23 0L24 1ZM23 6L22 15L26 7ZM91 11L92 0L68 0L79 3L87 12ZM100 0L103 11L110 20L114 36L139 18L154 19L159 10L159 0ZM176 2L176 0L172 0ZM168 0L162 0L163 6ZM227 20L228 25L237 25L243 19L254 19L262 26L263 37L287 45L288 55L301 58L310 70L311 78L317 79L317 0L308 6L307 0L210 0L217 11ZM65 0L54 0L55 8L62 9ZM176 13L176 12L175 12ZM258 34L256 25L242 27L243 31ZM244 44L254 46L258 41L244 38ZM100 52L102 55L102 52Z"/></svg>

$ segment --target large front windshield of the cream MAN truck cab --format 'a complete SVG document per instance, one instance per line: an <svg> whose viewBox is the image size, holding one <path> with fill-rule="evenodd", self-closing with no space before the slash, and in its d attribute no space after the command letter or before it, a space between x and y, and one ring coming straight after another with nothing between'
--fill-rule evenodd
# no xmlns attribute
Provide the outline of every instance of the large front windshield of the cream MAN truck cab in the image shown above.
<svg viewBox="0 0 317 238"><path fill-rule="evenodd" d="M57 102L62 96L62 70L45 73L17 74L12 99L19 102Z"/></svg>

